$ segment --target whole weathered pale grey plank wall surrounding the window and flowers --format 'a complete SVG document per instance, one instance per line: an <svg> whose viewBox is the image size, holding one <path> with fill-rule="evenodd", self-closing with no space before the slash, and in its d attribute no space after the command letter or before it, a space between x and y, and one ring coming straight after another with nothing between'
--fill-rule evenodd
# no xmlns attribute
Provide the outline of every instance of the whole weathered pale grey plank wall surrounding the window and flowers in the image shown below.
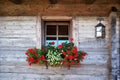
<svg viewBox="0 0 120 80"><path fill-rule="evenodd" d="M107 17L104 17L102 22L106 26L107 34L104 40L95 38L94 26L98 23L97 17L73 17L71 34L74 42L79 50L88 52L88 56L81 67L71 67L71 70L57 67L46 70L45 66L26 65L25 51L29 47L39 47L41 42L40 19L35 16L0 17L0 61L2 61L0 79L16 80L18 78L13 76L17 75L21 80L110 80L108 79L110 60L106 49L109 32ZM40 23L36 23L37 21Z"/></svg>

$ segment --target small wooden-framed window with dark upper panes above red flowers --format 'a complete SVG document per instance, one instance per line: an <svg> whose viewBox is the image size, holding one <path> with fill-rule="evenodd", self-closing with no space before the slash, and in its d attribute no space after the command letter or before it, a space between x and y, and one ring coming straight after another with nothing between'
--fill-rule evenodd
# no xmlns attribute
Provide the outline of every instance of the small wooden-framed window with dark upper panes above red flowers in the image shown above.
<svg viewBox="0 0 120 80"><path fill-rule="evenodd" d="M55 46L68 42L70 36L70 21L45 22L45 43L54 41Z"/></svg>

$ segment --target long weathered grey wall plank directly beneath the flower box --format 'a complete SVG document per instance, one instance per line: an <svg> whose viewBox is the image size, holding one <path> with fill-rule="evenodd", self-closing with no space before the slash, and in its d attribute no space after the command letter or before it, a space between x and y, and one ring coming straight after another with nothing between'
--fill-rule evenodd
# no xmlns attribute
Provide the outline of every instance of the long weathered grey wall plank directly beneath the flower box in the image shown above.
<svg viewBox="0 0 120 80"><path fill-rule="evenodd" d="M20 63L19 63L20 64ZM82 64L80 67L73 66L70 70L67 70L67 67L50 67L46 69L44 65L33 65L28 66L25 65L17 65L13 64L11 66L2 65L0 66L1 73L29 73L29 74L41 74L41 75L107 75L108 69L105 65L84 65ZM4 77L4 76L2 76Z"/></svg>

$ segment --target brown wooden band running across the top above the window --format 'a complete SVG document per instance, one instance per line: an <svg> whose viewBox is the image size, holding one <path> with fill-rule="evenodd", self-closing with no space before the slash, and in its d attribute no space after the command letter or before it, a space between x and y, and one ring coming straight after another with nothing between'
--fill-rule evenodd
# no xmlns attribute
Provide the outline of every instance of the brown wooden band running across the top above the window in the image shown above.
<svg viewBox="0 0 120 80"><path fill-rule="evenodd" d="M119 0L58 0L50 4L49 0L23 0L15 4L10 0L0 0L0 16L109 16L112 7L120 10Z"/></svg>

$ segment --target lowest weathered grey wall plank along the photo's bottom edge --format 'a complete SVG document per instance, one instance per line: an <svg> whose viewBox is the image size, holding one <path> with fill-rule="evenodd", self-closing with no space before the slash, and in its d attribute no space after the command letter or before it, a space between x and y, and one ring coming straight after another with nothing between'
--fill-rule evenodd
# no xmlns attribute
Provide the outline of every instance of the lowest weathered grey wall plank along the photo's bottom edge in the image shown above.
<svg viewBox="0 0 120 80"><path fill-rule="evenodd" d="M40 75L40 74L17 74L17 73L1 73L0 76L6 75L2 80L107 80L108 76L95 75ZM11 76L11 77L10 77ZM17 78L16 78L17 76Z"/></svg>

